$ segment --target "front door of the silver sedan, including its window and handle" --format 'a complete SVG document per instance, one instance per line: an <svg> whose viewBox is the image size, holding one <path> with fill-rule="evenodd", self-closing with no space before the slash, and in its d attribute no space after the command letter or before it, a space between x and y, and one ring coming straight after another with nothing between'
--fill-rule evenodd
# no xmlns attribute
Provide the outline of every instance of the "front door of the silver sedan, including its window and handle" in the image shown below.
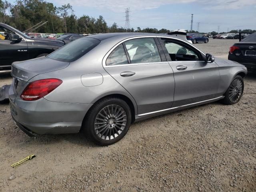
<svg viewBox="0 0 256 192"><path fill-rule="evenodd" d="M199 50L180 40L160 39L174 71L175 93L172 107L215 98L220 73L218 65L203 61Z"/></svg>

